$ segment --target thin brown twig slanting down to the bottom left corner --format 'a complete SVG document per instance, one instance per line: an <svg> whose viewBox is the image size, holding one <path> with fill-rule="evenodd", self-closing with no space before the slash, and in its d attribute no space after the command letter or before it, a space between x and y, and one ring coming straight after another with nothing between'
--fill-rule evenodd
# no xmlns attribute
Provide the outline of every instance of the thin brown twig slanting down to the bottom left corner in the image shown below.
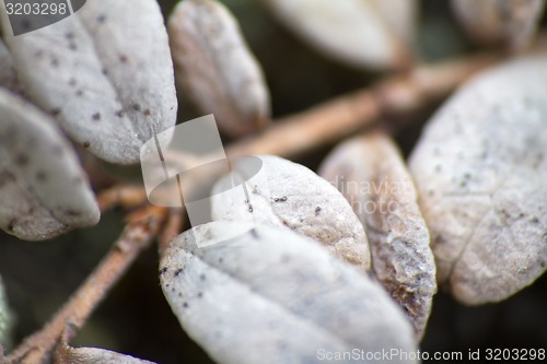
<svg viewBox="0 0 547 364"><path fill-rule="evenodd" d="M70 326L75 334L127 268L150 246L163 225L166 211L147 207L129 215L126 228L98 267L40 331L8 355L7 363L46 363L65 329Z"/></svg>

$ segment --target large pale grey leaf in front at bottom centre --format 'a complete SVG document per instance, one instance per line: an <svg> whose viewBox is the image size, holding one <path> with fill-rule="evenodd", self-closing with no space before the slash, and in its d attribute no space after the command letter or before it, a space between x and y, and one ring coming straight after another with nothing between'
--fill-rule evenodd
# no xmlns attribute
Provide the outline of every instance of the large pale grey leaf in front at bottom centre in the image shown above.
<svg viewBox="0 0 547 364"><path fill-rule="evenodd" d="M234 231L247 232L208 245ZM287 228L199 225L171 243L160 267L181 325L219 363L317 363L323 350L416 349L380 285Z"/></svg>

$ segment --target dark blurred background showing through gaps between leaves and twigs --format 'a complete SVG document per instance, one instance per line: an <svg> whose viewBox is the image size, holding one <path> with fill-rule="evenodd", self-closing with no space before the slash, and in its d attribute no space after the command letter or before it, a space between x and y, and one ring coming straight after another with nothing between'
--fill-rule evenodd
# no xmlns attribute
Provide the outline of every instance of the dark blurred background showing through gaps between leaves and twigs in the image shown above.
<svg viewBox="0 0 547 364"><path fill-rule="evenodd" d="M160 0L167 16L176 1ZM334 96L366 87L385 77L340 66L307 47L281 27L256 0L223 0L263 64L276 117ZM543 23L545 25L546 16ZM456 25L447 1L423 0L416 49L421 61L438 61L477 51ZM396 138L408 154L421 126L439 105L412 115ZM179 95L179 121L200 116ZM228 140L226 140L228 141ZM302 156L315 168L328 148ZM119 173L118 173L119 176ZM39 329L62 305L119 235L124 211L104 214L92 228L50 242L27 243L0 232L0 274L16 314L14 342ZM421 350L546 348L547 278L496 304L465 307L441 290L433 301ZM189 340L171 313L158 280L158 254L146 251L94 313L74 345L101 347L158 363L211 363Z"/></svg>

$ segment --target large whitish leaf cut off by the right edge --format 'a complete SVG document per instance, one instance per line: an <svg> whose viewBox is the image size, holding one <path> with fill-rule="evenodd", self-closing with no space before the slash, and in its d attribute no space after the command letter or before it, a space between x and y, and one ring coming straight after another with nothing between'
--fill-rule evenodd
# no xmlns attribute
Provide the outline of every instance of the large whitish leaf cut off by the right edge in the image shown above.
<svg viewBox="0 0 547 364"><path fill-rule="evenodd" d="M467 304L504 300L547 267L547 57L463 86L410 156L438 281Z"/></svg>

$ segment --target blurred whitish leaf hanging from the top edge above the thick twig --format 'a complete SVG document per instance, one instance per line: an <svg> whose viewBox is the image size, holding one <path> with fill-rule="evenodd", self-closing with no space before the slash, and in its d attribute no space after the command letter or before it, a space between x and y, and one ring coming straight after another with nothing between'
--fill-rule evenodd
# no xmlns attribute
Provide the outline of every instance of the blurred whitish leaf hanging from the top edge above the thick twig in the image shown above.
<svg viewBox="0 0 547 364"><path fill-rule="evenodd" d="M414 0L264 0L277 17L324 55L361 69L411 62Z"/></svg>

